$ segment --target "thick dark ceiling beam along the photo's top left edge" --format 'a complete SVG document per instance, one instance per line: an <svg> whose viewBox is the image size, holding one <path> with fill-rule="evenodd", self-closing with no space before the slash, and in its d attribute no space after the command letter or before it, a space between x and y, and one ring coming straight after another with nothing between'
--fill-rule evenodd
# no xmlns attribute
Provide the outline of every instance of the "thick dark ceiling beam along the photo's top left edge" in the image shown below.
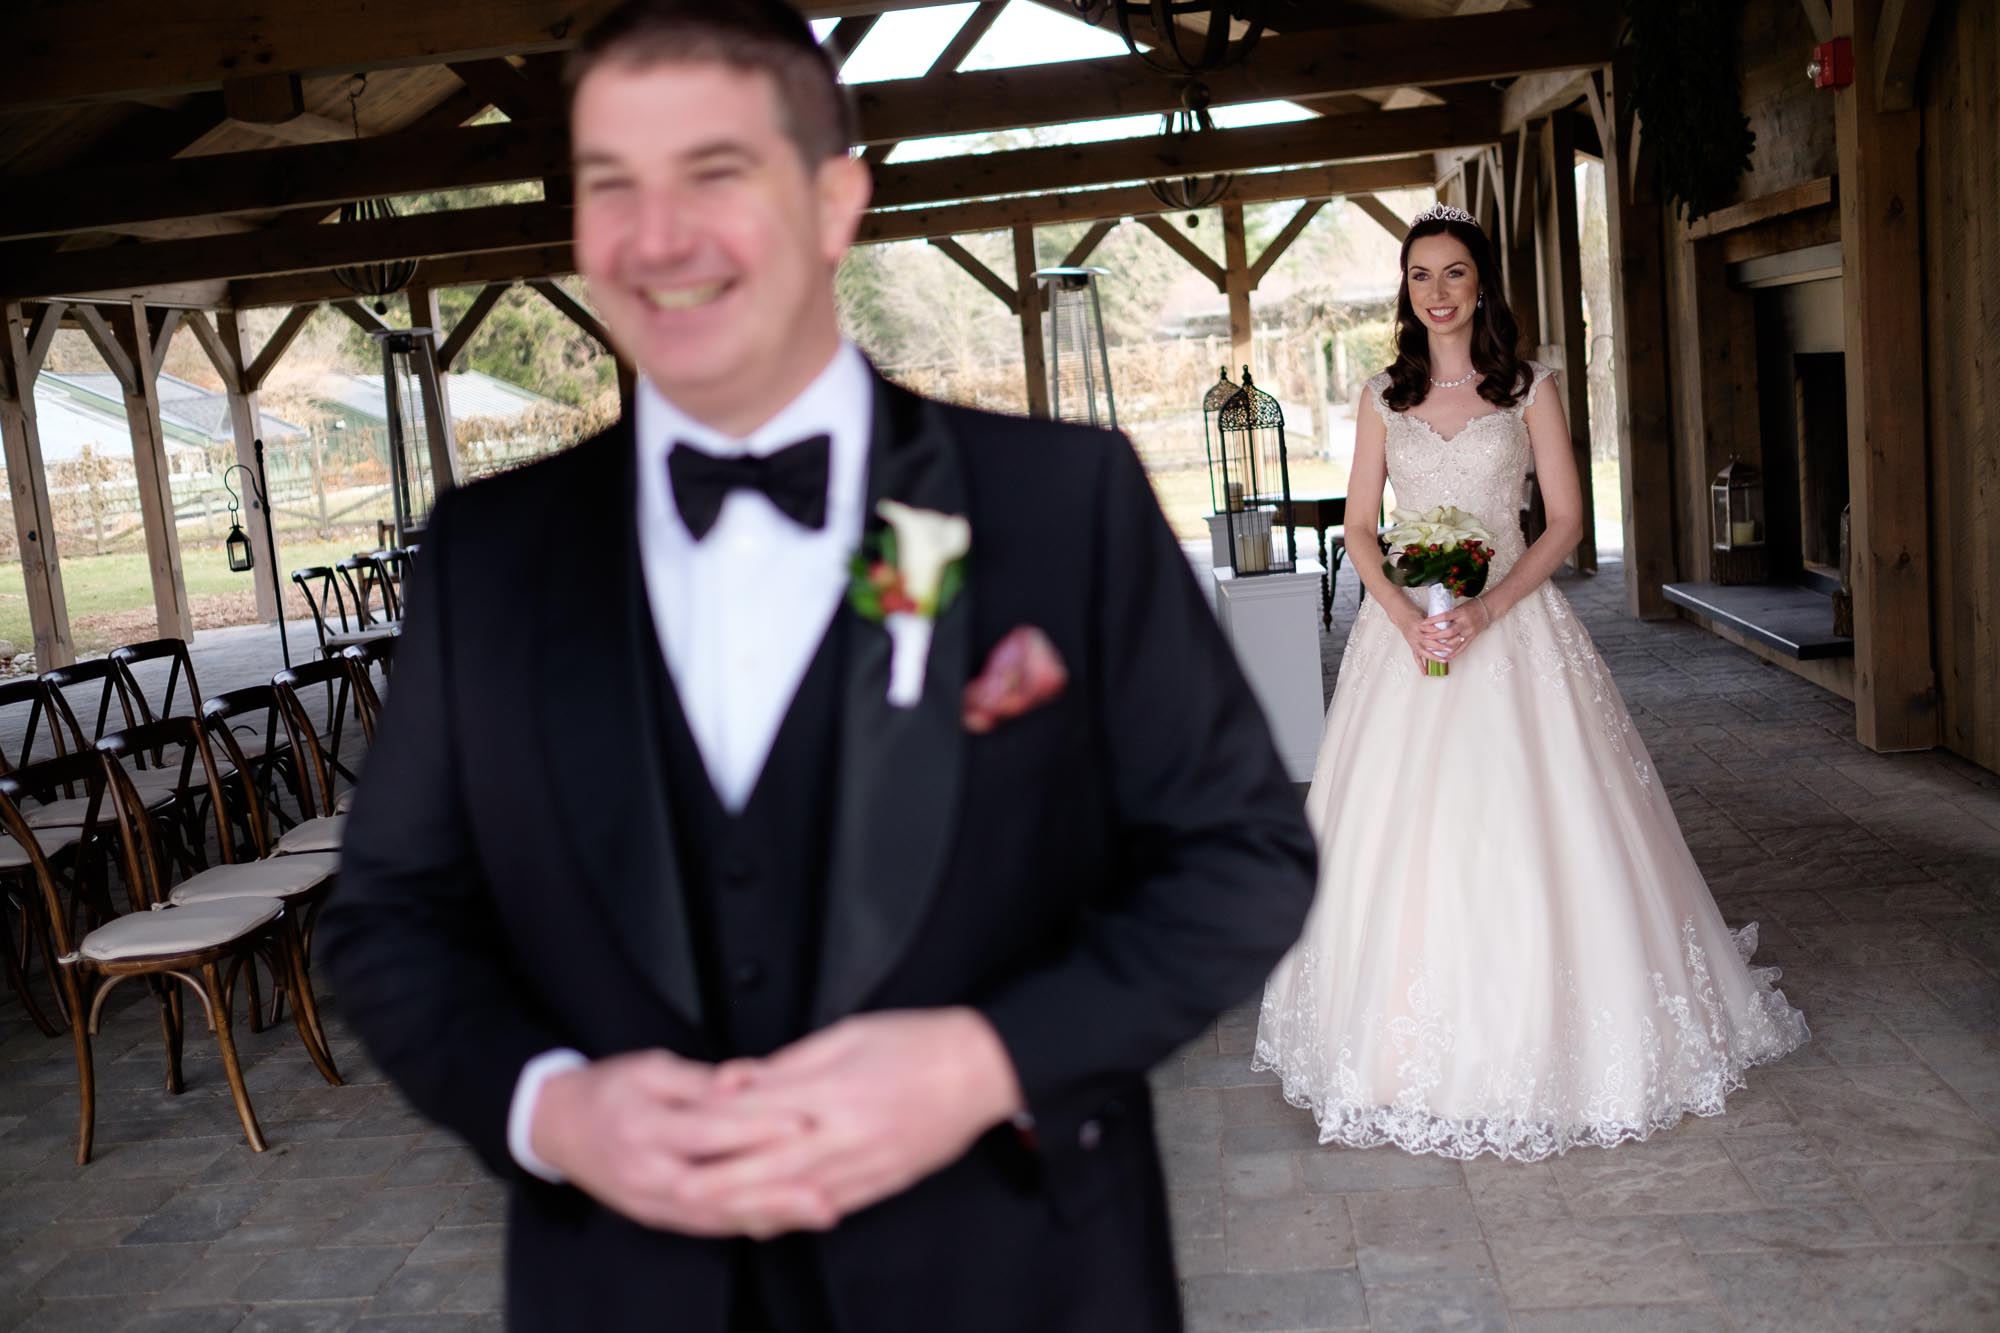
<svg viewBox="0 0 2000 1333"><path fill-rule="evenodd" d="M808 18L912 10L936 0L796 0ZM10 6L0 112L220 88L256 76L392 70L566 50L614 0L40 0ZM272 12L276 10L276 12ZM108 40L116 34L116 40Z"/></svg>

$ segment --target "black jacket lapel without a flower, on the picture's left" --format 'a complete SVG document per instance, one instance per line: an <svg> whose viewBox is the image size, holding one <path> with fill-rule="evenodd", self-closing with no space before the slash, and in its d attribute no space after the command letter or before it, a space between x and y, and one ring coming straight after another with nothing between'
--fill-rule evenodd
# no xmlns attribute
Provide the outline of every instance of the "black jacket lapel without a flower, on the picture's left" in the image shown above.
<svg viewBox="0 0 2000 1333"><path fill-rule="evenodd" d="M530 636L538 699L528 713L578 879L598 897L608 933L632 965L698 1027L694 941L648 675L648 654L660 644L638 554L630 424L576 448L576 488L562 504L602 514L602 522L566 524L562 540L546 546Z"/></svg>

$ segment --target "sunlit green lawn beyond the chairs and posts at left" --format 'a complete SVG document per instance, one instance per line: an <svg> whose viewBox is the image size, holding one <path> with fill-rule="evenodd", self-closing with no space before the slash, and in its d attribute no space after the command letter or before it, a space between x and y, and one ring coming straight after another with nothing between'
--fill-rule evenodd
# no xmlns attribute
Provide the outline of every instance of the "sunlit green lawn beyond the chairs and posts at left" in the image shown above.
<svg viewBox="0 0 2000 1333"><path fill-rule="evenodd" d="M344 542L280 538L278 556L286 572L308 564L332 564L364 546L362 536ZM182 572L188 580L188 600L194 602L196 624L250 622L246 614L252 596L252 574L230 572L220 542L182 540ZM304 602L290 592L286 614L304 616ZM134 622L152 622L152 576L144 552L62 556L62 596L70 608L70 630L80 652L102 652L118 642L154 636L154 630ZM28 624L28 596L22 586L20 560L0 562L0 638L22 652L34 648L34 628Z"/></svg>

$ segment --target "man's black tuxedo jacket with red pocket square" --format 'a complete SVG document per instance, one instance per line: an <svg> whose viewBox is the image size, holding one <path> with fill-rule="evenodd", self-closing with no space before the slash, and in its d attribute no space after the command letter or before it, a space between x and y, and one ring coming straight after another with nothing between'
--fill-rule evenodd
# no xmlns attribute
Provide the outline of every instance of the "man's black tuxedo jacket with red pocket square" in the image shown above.
<svg viewBox="0 0 2000 1333"><path fill-rule="evenodd" d="M638 1227L506 1149L540 1051L702 1055L634 466L618 426L438 504L318 927L370 1055L514 1183L516 1329L724 1327L726 1245ZM812 1025L974 1005L1034 1133L996 1129L816 1237L828 1301L860 1333L1178 1327L1144 1075L1298 935L1300 801L1120 436L878 382L870 512L880 496L966 514L972 554L916 709L884 699L888 636L846 626ZM1070 687L968 735L960 691L1018 624Z"/></svg>

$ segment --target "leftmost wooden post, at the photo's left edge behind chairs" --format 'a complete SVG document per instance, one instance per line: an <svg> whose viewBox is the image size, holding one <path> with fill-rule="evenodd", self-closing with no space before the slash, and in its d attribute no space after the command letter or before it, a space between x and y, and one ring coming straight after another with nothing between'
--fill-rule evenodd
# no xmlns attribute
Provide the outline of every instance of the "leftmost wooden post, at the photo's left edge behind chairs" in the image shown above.
<svg viewBox="0 0 2000 1333"><path fill-rule="evenodd" d="M42 466L42 434L34 420L34 378L48 352L48 336L62 320L62 306L42 306L36 336L22 328L24 308L0 304L0 438L6 444L8 490L14 498L14 536L20 540L20 574L28 594L28 622L34 626L38 671L76 660L70 640L70 610L62 596L62 560L56 554L56 524L48 506L48 470Z"/></svg>

